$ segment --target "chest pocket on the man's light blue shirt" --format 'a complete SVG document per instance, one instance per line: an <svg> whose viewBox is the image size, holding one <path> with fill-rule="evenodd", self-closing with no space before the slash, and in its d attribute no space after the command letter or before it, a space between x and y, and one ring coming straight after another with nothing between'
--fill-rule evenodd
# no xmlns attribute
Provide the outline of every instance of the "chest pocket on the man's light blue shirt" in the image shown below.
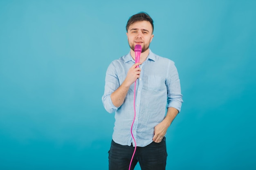
<svg viewBox="0 0 256 170"><path fill-rule="evenodd" d="M160 91L165 86L164 80L160 76L148 75L146 88L150 91Z"/></svg>

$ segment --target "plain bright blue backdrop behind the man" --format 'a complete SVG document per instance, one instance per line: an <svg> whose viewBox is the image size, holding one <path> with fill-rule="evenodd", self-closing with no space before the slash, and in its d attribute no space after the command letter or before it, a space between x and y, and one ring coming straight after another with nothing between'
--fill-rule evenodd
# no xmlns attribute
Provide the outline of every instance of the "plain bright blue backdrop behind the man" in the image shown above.
<svg viewBox="0 0 256 170"><path fill-rule="evenodd" d="M114 114L108 65L129 52L128 18L155 22L184 104L166 169L256 169L255 0L0 0L0 169L104 170ZM139 170L139 166L136 167Z"/></svg>

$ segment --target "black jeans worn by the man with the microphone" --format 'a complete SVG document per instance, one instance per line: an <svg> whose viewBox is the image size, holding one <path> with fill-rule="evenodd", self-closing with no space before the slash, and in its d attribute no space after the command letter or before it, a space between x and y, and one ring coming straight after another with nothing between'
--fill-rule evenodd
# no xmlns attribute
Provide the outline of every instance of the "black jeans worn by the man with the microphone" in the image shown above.
<svg viewBox="0 0 256 170"><path fill-rule="evenodd" d="M133 151L133 146L119 145L112 140L108 155L109 170L128 170ZM137 162L139 162L141 170L165 170L166 159L166 139L164 137L160 143L152 142L148 146L137 147L131 170L135 168Z"/></svg>

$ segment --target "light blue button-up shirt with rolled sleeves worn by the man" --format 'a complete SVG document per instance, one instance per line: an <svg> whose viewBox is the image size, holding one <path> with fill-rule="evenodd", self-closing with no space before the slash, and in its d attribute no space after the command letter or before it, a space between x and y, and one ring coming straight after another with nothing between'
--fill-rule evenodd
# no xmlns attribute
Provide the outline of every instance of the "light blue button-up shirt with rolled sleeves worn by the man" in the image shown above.
<svg viewBox="0 0 256 170"><path fill-rule="evenodd" d="M112 139L117 144L128 146L131 143L135 146L130 132L134 118L134 83L119 108L113 105L110 95L124 82L134 63L129 53L108 66L102 96L105 109L109 113L115 112ZM176 108L180 112L183 101L180 79L173 61L149 51L147 59L139 67L141 73L136 82L136 118L132 133L137 146L144 147L153 141L154 127L165 118L166 107Z"/></svg>

